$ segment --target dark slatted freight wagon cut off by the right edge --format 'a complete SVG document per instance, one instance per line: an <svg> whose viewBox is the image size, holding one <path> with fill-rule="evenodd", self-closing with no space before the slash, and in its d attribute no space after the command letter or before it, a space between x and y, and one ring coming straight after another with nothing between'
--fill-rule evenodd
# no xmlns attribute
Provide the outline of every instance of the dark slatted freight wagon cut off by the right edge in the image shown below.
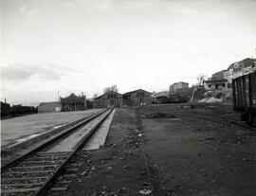
<svg viewBox="0 0 256 196"><path fill-rule="evenodd" d="M232 81L233 108L241 120L256 125L256 71Z"/></svg>

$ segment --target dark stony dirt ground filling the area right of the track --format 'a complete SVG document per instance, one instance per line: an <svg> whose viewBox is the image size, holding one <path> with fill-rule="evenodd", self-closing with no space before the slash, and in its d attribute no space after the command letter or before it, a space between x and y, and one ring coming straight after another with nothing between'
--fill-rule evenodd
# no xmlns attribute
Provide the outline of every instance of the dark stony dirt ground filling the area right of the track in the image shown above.
<svg viewBox="0 0 256 196"><path fill-rule="evenodd" d="M232 120L230 106L118 109L62 195L256 195L256 131Z"/></svg>

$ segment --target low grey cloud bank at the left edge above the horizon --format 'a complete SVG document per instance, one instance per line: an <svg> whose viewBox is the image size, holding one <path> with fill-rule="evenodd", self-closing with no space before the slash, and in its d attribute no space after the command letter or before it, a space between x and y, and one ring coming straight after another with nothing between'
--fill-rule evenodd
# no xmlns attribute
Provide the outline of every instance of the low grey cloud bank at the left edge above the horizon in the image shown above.
<svg viewBox="0 0 256 196"><path fill-rule="evenodd" d="M41 80L61 80L65 75L61 65L54 67L52 63L45 66L33 66L24 63L9 63L2 67L2 79L9 81L29 80L32 76Z"/></svg>

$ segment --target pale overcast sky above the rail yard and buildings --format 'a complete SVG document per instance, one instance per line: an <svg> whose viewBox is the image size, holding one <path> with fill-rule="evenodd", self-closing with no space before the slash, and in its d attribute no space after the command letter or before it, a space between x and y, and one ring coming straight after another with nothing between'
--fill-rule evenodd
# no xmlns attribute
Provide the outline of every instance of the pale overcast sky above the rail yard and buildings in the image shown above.
<svg viewBox="0 0 256 196"><path fill-rule="evenodd" d="M1 100L196 83L255 57L255 0L1 0Z"/></svg>

